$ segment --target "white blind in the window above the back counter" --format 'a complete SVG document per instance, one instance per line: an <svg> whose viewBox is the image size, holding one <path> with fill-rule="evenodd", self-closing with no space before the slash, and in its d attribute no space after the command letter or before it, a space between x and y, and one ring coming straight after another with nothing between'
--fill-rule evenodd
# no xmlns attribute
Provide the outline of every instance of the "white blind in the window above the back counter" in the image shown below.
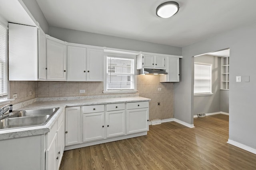
<svg viewBox="0 0 256 170"><path fill-rule="evenodd" d="M134 90L134 59L107 57L107 90Z"/></svg>

